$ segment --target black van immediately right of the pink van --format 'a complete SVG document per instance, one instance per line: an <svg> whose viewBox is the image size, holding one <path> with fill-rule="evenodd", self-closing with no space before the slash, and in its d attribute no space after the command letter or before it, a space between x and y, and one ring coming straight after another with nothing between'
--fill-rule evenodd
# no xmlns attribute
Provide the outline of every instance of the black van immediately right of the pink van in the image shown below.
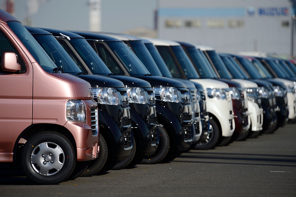
<svg viewBox="0 0 296 197"><path fill-rule="evenodd" d="M110 170L114 165L118 167L124 167L123 165L128 165L132 161L135 162L136 159L134 155L136 152L136 142L132 144L134 136L131 132L131 118L134 116L131 115L128 95L126 92L126 87L124 87L123 83L117 79L107 76L83 74L81 69L78 68L78 66L73 62L67 52L62 48L62 46L52 36L51 33L33 27L27 27L27 29L32 33L41 46L43 46L49 56L51 56L53 61L56 62L58 67L63 72L76 74L77 76L90 82L92 85L94 97L97 100L98 108L100 109L99 112L102 113L99 114L102 137L100 145L101 152L99 161L96 161L96 163L91 163L91 165L89 165L88 171L83 173L83 175L92 175L97 171L103 172ZM102 63L102 65L104 65L104 63ZM107 74L111 73L111 71L109 71L106 66L102 66L102 68L103 69L100 68L101 72L104 70ZM147 97L147 95L145 96ZM151 100L150 97L148 100ZM142 122L137 121L137 123L141 124ZM144 127L145 126L146 125L144 125ZM157 133L152 133L150 138L153 138L153 140L150 139L149 141L149 146L152 146L152 149L149 149L148 146L147 152L148 154L153 154L157 147ZM130 146L123 148L118 146L118 144L124 143L125 141L127 141L126 145ZM139 147L141 147L141 145L145 146L143 142L144 140L139 141ZM133 145L133 149L131 145ZM124 155L124 157L120 155ZM104 165L102 162L104 162L106 159L109 162ZM104 167L102 170L100 170L102 165L104 165Z"/></svg>

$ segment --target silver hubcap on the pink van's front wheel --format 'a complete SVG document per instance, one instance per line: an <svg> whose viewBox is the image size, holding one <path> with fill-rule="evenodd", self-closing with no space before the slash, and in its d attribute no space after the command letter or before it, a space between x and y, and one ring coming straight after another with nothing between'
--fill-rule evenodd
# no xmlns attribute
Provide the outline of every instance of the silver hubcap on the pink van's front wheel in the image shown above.
<svg viewBox="0 0 296 197"><path fill-rule="evenodd" d="M51 176L62 169L65 154L57 144L43 142L33 149L30 162L35 172L40 175Z"/></svg>

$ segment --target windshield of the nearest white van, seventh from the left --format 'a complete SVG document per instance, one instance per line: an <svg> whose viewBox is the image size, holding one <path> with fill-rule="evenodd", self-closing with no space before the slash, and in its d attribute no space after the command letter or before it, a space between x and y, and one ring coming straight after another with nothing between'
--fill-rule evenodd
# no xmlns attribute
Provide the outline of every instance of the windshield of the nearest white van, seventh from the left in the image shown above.
<svg viewBox="0 0 296 197"><path fill-rule="evenodd" d="M189 57L186 55L185 51L181 46L171 46L173 53L178 59L180 65L182 66L184 73L188 79L199 79L200 76L197 74L193 64L191 63Z"/></svg>

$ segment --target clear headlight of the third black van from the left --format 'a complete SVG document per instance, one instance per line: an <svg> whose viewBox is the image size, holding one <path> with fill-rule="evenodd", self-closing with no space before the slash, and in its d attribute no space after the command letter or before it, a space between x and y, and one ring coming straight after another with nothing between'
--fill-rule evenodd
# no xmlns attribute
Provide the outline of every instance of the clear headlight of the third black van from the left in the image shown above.
<svg viewBox="0 0 296 197"><path fill-rule="evenodd" d="M155 96L160 100L168 102L180 102L181 92L176 87L153 87Z"/></svg>

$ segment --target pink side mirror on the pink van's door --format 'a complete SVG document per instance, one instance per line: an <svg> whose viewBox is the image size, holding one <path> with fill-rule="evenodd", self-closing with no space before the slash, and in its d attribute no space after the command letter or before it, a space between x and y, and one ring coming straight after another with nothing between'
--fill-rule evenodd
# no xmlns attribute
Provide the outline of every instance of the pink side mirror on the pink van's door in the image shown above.
<svg viewBox="0 0 296 197"><path fill-rule="evenodd" d="M2 53L1 69L9 72L20 70L20 64L17 64L17 55L14 52L6 51Z"/></svg>

